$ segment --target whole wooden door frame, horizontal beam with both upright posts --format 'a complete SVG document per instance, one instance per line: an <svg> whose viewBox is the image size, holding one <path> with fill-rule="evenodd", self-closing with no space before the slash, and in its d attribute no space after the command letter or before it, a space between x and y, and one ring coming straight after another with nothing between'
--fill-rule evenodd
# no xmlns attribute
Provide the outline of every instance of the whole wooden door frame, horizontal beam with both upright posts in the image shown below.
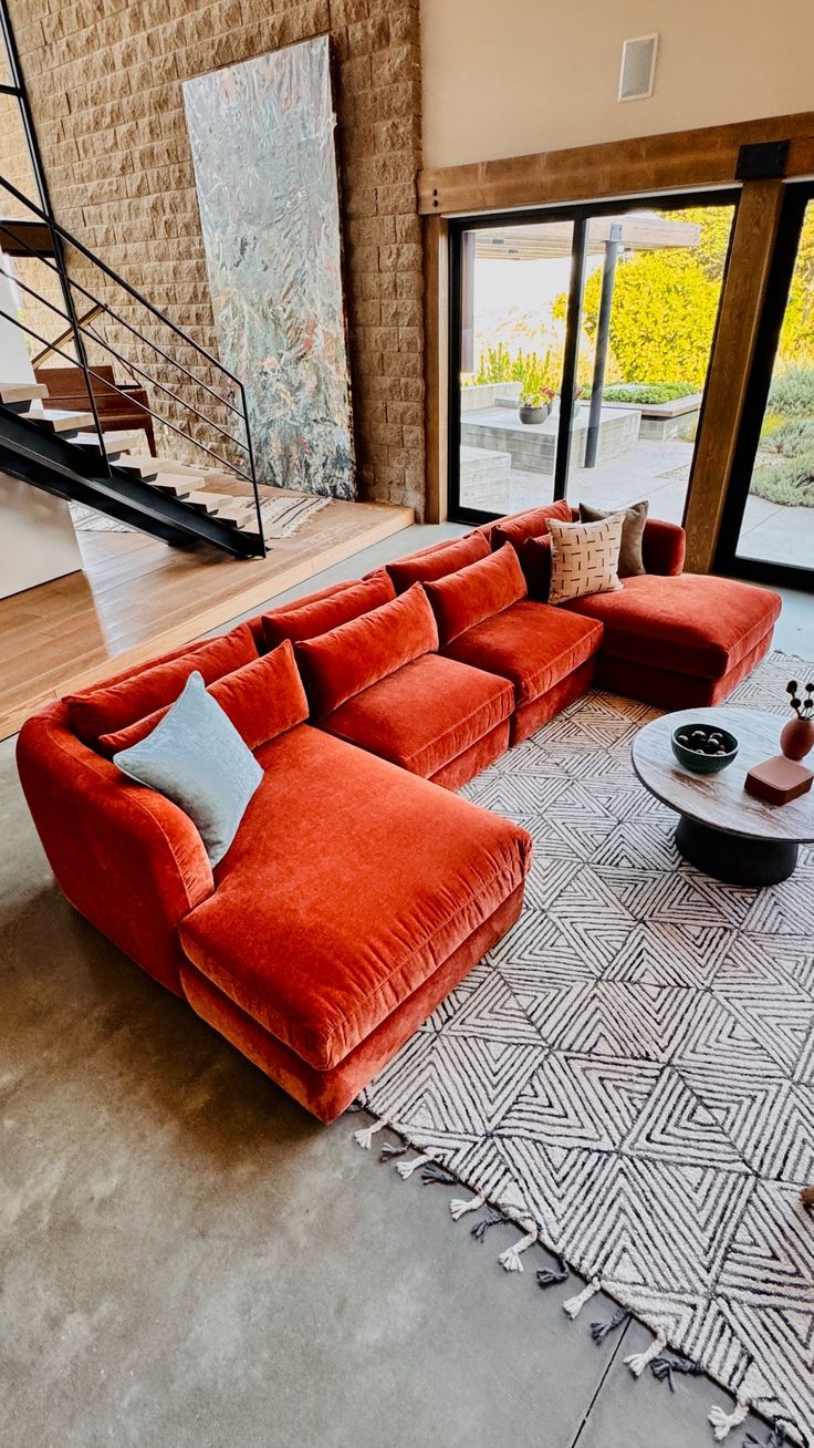
<svg viewBox="0 0 814 1448"><path fill-rule="evenodd" d="M763 146L768 153L745 155L745 146ZM428 521L447 515L448 219L740 184L685 514L687 566L708 572L734 460L784 182L810 175L814 175L813 111L421 171L416 195L418 211L425 217Z"/></svg>

